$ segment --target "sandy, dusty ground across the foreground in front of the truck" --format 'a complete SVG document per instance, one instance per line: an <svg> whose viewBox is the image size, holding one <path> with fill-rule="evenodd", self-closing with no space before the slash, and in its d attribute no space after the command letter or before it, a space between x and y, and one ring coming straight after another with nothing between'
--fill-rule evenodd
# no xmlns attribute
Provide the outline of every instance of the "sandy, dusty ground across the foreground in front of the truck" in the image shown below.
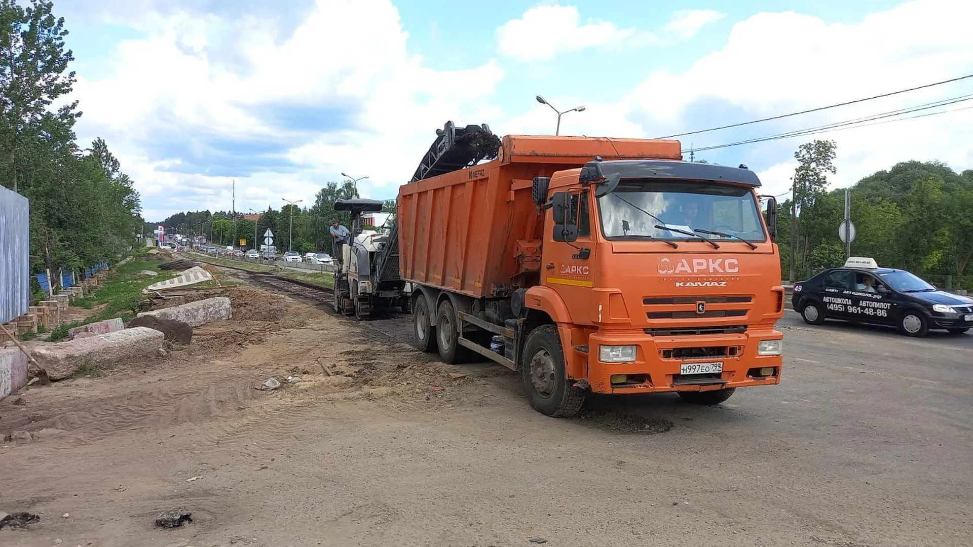
<svg viewBox="0 0 973 547"><path fill-rule="evenodd" d="M966 338L788 319L779 386L565 420L415 351L408 317L227 293L168 357L0 401L0 511L41 515L0 545L973 544Z"/></svg>

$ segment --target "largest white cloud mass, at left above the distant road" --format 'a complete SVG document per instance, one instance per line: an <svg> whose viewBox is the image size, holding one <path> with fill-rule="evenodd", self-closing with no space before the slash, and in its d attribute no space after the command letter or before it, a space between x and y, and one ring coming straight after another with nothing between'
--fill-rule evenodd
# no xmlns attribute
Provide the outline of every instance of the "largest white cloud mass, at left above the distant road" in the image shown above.
<svg viewBox="0 0 973 547"><path fill-rule="evenodd" d="M489 111L486 99L504 74L492 61L458 71L424 66L407 52L407 34L389 0L317 0L293 34L283 37L272 20L186 11L150 12L138 27L146 37L121 42L108 59L114 73L97 81L81 76L75 94L85 112L79 136L104 136L127 160L124 168L145 195L145 216L151 218L174 212L157 209L150 199L159 188L192 195L202 177L162 170L187 160L178 155L150 160L161 130L190 149L214 134L273 141L292 135L255 115L263 108L254 105L358 104L354 128L312 129L287 154L300 164L299 173L237 177L238 187L257 190L244 193L242 201L237 193L236 207L263 208L264 198L279 201L284 192L303 193L308 201L342 170L369 174L361 187L368 192L398 182L409 170L403 165L418 162L435 137L431 120ZM220 57L227 49L245 61L244 68ZM469 81L478 85L465 85ZM334 142L342 145L329 144ZM219 202L207 196L182 208L229 208L232 179L209 178L223 184ZM251 197L258 201L249 202Z"/></svg>

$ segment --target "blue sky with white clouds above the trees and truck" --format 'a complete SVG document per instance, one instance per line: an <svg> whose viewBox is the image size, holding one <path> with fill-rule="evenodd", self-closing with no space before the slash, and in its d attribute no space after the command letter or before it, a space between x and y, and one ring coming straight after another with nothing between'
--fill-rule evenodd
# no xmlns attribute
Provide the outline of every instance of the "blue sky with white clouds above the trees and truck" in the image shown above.
<svg viewBox="0 0 973 547"><path fill-rule="evenodd" d="M79 140L104 138L150 221L313 203L342 172L391 199L447 121L498 135L654 138L973 74L973 2L55 0ZM703 149L973 95L973 78L678 137ZM909 160L973 167L973 101L863 128L694 152L790 187L838 144L835 188ZM686 154L689 159L689 154Z"/></svg>

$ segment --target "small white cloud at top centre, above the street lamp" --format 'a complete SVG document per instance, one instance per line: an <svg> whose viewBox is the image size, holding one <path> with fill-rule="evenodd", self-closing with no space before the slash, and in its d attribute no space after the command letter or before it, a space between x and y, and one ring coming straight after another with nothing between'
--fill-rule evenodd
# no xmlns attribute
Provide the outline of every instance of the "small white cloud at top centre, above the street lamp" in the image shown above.
<svg viewBox="0 0 973 547"><path fill-rule="evenodd" d="M711 10L683 10L673 14L657 33L620 28L603 20L583 23L574 6L542 4L497 28L496 39L500 55L521 61L547 60L590 48L671 45L693 38L703 26L722 17Z"/></svg>

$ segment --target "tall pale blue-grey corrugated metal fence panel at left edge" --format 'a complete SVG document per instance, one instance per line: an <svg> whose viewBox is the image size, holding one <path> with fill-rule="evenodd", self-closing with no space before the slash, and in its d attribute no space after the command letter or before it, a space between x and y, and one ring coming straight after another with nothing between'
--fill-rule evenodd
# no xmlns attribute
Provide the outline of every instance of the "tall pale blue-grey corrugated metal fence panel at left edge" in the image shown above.
<svg viewBox="0 0 973 547"><path fill-rule="evenodd" d="M0 186L0 323L30 306L30 201Z"/></svg>

